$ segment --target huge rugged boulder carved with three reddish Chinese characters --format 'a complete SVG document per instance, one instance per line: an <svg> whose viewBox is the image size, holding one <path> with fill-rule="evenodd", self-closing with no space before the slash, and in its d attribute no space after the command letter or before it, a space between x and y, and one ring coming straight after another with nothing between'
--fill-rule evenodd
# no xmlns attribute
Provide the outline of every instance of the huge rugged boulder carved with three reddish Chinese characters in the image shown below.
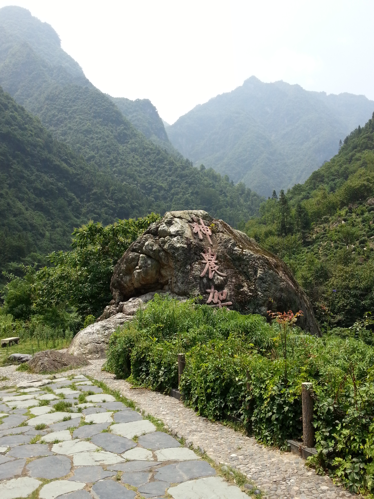
<svg viewBox="0 0 374 499"><path fill-rule="evenodd" d="M202 303L229 303L243 314L302 310L298 324L320 333L309 299L287 265L203 211L166 213L116 264L111 291L118 305L156 290L180 298L201 294Z"/></svg>

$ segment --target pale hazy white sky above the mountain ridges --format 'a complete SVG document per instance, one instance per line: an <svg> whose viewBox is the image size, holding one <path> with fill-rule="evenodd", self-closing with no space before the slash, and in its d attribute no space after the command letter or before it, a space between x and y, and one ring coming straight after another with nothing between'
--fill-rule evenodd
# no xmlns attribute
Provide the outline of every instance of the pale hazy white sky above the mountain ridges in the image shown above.
<svg viewBox="0 0 374 499"><path fill-rule="evenodd" d="M299 83L374 100L374 1L0 0L53 26L103 92L173 123L241 85Z"/></svg>

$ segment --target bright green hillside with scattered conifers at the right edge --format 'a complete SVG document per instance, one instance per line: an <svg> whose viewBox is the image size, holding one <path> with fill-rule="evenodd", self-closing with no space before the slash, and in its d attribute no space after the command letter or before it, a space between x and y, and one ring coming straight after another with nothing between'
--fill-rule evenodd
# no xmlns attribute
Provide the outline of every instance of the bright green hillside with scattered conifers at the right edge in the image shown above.
<svg viewBox="0 0 374 499"><path fill-rule="evenodd" d="M303 185L275 194L245 231L291 266L321 323L374 313L374 114Z"/></svg>

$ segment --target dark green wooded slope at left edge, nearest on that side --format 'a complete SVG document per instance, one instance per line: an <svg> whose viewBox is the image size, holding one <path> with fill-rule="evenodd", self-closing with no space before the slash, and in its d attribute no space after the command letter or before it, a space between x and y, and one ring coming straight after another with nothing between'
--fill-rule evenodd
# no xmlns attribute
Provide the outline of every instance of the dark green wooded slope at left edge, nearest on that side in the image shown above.
<svg viewBox="0 0 374 499"><path fill-rule="evenodd" d="M118 187L0 87L0 271L67 249L74 227L124 215ZM116 202L115 202L116 200Z"/></svg>

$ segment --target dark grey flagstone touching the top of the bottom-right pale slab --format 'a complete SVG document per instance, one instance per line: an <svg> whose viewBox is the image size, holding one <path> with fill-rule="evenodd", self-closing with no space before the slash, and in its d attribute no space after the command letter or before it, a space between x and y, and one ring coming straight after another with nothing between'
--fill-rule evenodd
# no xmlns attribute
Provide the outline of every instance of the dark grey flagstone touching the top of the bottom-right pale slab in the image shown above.
<svg viewBox="0 0 374 499"><path fill-rule="evenodd" d="M155 480L178 484L193 478L212 477L215 474L214 468L206 461L183 461L160 468L155 475Z"/></svg>

